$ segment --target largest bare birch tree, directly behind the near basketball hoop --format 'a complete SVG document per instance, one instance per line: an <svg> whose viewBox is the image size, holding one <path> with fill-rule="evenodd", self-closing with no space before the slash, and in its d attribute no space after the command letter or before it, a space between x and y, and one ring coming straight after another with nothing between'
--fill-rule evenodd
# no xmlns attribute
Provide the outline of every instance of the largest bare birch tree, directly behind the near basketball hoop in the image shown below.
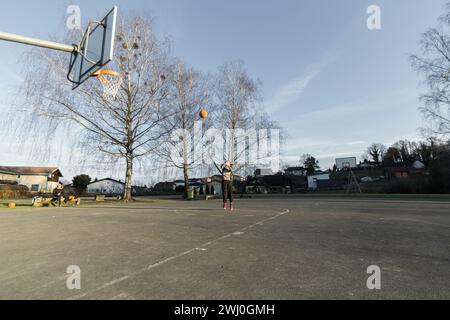
<svg viewBox="0 0 450 320"><path fill-rule="evenodd" d="M124 200L131 200L133 163L151 154L169 134L163 126L173 114L167 103L168 43L156 39L146 18L125 17L118 25L116 61L108 68L124 81L115 100L105 99L93 80L71 90L65 54L33 49L27 55L24 106L49 133L64 123L81 129L78 142L97 157L106 154L126 163ZM92 151L96 152L93 153Z"/></svg>

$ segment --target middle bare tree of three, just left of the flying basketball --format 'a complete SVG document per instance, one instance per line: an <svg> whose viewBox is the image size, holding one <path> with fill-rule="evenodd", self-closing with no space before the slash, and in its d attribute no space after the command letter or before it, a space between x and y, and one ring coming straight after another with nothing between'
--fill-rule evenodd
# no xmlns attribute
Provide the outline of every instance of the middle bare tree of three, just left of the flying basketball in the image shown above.
<svg viewBox="0 0 450 320"><path fill-rule="evenodd" d="M209 121L200 124L199 113L207 108L209 89L207 78L187 68L179 62L173 75L167 81L171 82L170 103L176 112L167 121L168 128L173 131L175 139L169 139L158 150L159 160L169 166L183 170L185 195L189 190L189 173L202 164L202 131L209 127ZM209 112L212 110L207 108ZM197 137L197 139L195 138Z"/></svg>

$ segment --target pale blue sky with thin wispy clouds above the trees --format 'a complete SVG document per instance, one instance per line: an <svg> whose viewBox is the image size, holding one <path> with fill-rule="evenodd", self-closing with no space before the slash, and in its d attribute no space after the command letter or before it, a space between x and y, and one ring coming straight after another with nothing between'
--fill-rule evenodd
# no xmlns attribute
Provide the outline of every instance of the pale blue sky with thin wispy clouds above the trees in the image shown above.
<svg viewBox="0 0 450 320"><path fill-rule="evenodd" d="M114 4L150 13L157 32L172 37L174 55L205 72L243 60L263 83L266 110L288 133L287 163L310 153L328 168L336 157L359 158L371 142L419 139L425 125L417 111L423 88L408 57L445 0L3 0L0 30L46 39L63 32L70 4L80 6L84 24ZM372 4L381 7L381 30L366 27ZM20 84L25 50L0 43L0 112ZM36 164L5 146L1 164ZM57 162L48 164L68 167Z"/></svg>

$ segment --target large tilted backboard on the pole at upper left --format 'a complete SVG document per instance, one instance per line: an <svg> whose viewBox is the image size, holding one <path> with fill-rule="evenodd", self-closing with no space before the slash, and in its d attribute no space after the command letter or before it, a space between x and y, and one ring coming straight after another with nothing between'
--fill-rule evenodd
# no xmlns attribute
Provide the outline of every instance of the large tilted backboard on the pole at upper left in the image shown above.
<svg viewBox="0 0 450 320"><path fill-rule="evenodd" d="M78 51L72 53L67 78L78 88L95 72L102 69L114 57L117 7L114 7L101 21L91 21Z"/></svg>

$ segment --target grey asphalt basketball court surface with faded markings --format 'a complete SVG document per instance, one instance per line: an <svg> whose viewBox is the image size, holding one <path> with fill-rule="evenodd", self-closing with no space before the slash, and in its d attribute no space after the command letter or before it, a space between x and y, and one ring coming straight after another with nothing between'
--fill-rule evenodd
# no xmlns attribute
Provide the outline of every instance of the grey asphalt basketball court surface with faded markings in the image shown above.
<svg viewBox="0 0 450 320"><path fill-rule="evenodd" d="M0 299L450 299L450 202L236 206L1 209ZM66 287L70 265L80 290Z"/></svg>

